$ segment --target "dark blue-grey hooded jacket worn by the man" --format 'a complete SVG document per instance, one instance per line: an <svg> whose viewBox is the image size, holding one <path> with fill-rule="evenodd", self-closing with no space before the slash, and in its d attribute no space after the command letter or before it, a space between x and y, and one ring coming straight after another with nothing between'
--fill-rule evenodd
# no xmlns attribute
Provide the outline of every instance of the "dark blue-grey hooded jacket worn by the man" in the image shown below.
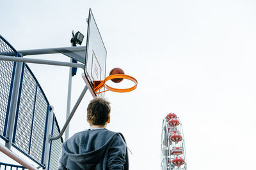
<svg viewBox="0 0 256 170"><path fill-rule="evenodd" d="M122 134L107 129L89 129L74 134L63 143L59 170L126 170L128 164Z"/></svg>

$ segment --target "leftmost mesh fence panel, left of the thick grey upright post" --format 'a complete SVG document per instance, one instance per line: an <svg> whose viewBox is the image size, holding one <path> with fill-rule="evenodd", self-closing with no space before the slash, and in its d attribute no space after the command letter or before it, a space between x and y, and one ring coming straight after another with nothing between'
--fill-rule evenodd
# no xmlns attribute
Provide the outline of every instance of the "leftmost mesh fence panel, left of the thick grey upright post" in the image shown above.
<svg viewBox="0 0 256 170"><path fill-rule="evenodd" d="M0 55L16 56L17 51L0 35ZM6 127L16 62L0 60L0 138L6 139Z"/></svg>

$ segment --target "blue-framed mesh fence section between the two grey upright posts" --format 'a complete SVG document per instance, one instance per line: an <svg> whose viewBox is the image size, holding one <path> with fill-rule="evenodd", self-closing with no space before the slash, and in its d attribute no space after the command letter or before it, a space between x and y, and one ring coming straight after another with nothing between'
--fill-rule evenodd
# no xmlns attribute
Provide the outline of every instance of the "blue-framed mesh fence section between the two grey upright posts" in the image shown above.
<svg viewBox="0 0 256 170"><path fill-rule="evenodd" d="M49 102L27 64L23 64L12 145L44 167Z"/></svg>

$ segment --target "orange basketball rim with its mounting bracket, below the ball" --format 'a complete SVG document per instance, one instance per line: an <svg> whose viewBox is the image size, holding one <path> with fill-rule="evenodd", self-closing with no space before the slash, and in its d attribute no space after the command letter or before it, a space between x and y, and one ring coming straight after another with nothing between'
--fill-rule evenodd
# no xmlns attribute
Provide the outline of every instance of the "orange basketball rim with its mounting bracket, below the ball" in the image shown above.
<svg viewBox="0 0 256 170"><path fill-rule="evenodd" d="M106 82L108 80L112 80L112 79L115 79L115 78L124 78L124 79L127 79L127 80L131 80L135 83L135 85L133 87L130 87L130 88L127 88L127 89L116 89L116 88L113 88L113 87L109 87L109 85L106 84ZM94 88L94 92L96 94L100 94L102 92L97 92L99 91L100 89L102 89L103 87L106 87L106 89L112 91L112 92L119 92L119 93L124 93L124 92L131 92L132 90L136 89L137 85L138 85L138 81L132 77L132 76L129 76L129 75L125 75L125 74L112 74L110 76L107 76L105 78L105 80L103 81L95 81L94 84L97 86ZM108 90L105 90L103 92L106 92Z"/></svg>

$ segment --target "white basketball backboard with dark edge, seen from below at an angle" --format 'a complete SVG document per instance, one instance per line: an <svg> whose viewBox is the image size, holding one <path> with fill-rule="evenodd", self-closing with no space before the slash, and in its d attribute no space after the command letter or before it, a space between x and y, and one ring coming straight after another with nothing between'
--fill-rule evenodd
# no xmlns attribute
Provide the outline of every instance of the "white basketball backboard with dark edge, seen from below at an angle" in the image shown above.
<svg viewBox="0 0 256 170"><path fill-rule="evenodd" d="M105 89L102 88L95 94L95 81L104 80L106 78L106 57L107 51L100 36L99 29L93 17L92 10L89 10L88 29L86 40L86 55L84 62L84 81L93 97L104 96Z"/></svg>

